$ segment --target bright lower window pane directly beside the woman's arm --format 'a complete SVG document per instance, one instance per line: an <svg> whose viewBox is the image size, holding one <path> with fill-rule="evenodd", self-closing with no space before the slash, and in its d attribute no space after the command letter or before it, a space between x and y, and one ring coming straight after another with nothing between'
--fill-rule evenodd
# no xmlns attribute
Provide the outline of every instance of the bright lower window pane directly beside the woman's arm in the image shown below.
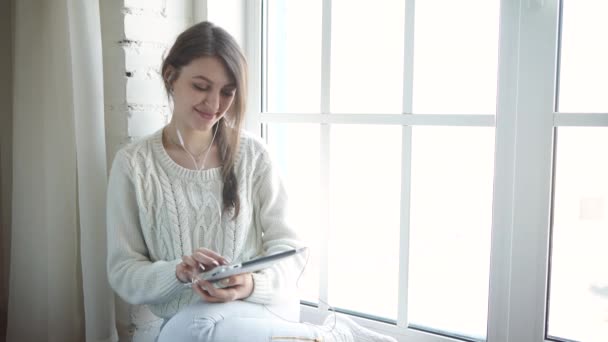
<svg viewBox="0 0 608 342"><path fill-rule="evenodd" d="M268 145L287 188L289 221L309 247L306 271L299 282L300 298L317 303L319 298L320 164L319 125L268 125Z"/></svg>

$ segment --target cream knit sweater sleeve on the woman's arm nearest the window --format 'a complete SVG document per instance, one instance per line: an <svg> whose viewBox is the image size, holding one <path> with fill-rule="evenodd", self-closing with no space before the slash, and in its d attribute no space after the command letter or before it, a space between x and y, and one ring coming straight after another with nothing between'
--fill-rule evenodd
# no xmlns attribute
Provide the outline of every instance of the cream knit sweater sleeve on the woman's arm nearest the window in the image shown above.
<svg viewBox="0 0 608 342"><path fill-rule="evenodd" d="M254 183L256 224L262 230L264 254L302 247L296 232L287 222L287 194L275 167L264 151L263 166ZM296 281L302 273L305 255L299 254L271 268L253 274L254 289L246 301L272 304L296 295Z"/></svg>

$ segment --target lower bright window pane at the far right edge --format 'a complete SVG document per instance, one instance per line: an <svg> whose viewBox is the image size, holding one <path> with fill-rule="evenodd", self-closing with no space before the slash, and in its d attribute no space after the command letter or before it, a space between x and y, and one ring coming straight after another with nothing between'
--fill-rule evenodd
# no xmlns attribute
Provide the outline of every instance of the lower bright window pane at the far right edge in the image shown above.
<svg viewBox="0 0 608 342"><path fill-rule="evenodd" d="M548 334L608 341L608 128L558 130Z"/></svg>

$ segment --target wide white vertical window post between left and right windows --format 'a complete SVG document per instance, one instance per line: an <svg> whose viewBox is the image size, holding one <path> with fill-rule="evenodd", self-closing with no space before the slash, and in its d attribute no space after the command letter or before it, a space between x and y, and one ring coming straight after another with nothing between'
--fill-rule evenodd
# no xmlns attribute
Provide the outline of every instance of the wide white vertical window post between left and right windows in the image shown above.
<svg viewBox="0 0 608 342"><path fill-rule="evenodd" d="M543 341L545 336L558 3L502 2L501 26L506 24L508 32L501 34L507 38L501 54L509 54L503 56L505 68L512 66L517 76L499 83L499 99L505 102L497 118L490 341ZM508 52L513 49L517 55ZM513 150L505 146L509 141ZM505 188L509 184L512 189ZM504 322L507 327L500 327Z"/></svg>

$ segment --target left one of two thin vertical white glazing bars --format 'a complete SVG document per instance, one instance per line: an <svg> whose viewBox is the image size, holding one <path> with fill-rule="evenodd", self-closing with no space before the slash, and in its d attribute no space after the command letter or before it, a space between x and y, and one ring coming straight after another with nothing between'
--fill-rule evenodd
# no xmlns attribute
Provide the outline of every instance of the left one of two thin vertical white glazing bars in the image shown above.
<svg viewBox="0 0 608 342"><path fill-rule="evenodd" d="M331 0L323 0L321 29L321 113L329 115L330 111L330 75L331 75ZM330 126L320 125L320 179L321 179L321 231L325 234L321 243L319 263L319 309L328 310L329 303L329 237L330 237Z"/></svg>

